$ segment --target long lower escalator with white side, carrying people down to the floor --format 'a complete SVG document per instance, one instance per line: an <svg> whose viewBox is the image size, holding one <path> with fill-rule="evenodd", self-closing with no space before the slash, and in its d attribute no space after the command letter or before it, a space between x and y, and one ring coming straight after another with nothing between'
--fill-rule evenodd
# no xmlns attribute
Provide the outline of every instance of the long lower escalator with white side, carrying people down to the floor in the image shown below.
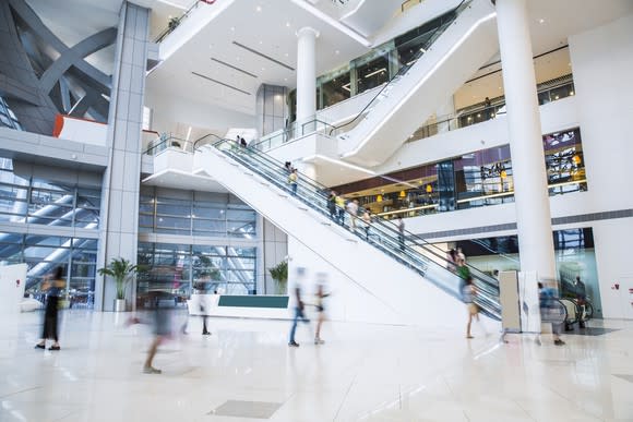
<svg viewBox="0 0 633 422"><path fill-rule="evenodd" d="M445 252L406 232L401 243L397 227L374 219L369 229L341 226L330 218L329 189L300 173L297 195L287 183L284 165L266 154L237 147L211 136L199 140L195 172L205 172L288 236L346 275L348 279L379 298L404 317L415 315L438 319L432 310L462 315L461 278L446 269ZM359 222L360 225L360 222ZM476 302L482 313L499 321L499 285L495 279L470 267L477 290ZM385 279L386 276L386 279ZM430 281L430 282L428 282ZM429 301L429 302L425 302ZM429 314L425 315L425 303Z"/></svg>

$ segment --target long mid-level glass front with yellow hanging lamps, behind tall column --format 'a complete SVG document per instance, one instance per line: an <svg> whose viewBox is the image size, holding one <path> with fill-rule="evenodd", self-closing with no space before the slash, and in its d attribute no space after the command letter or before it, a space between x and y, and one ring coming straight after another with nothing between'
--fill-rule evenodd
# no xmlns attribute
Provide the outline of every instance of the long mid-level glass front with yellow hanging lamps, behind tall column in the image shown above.
<svg viewBox="0 0 633 422"><path fill-rule="evenodd" d="M587 190L580 129L545 135L542 142L550 195ZM510 146L333 189L385 218L514 202Z"/></svg>

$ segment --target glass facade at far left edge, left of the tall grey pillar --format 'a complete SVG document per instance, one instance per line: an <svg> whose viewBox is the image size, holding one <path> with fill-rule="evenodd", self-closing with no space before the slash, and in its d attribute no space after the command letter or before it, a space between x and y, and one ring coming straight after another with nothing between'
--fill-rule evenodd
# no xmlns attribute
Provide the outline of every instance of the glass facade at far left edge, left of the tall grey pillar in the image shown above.
<svg viewBox="0 0 633 422"><path fill-rule="evenodd" d="M99 208L94 186L22 177L0 159L0 261L28 265L25 288L36 298L44 276L61 265L71 305L92 306ZM77 237L77 228L93 234Z"/></svg>

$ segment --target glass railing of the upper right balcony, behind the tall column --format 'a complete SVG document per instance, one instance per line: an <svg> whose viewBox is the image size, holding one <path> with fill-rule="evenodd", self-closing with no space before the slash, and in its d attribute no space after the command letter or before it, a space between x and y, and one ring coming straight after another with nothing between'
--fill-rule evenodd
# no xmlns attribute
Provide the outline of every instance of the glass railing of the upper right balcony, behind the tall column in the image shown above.
<svg viewBox="0 0 633 422"><path fill-rule="evenodd" d="M561 76L554 81L540 84L537 87L537 94L539 106L574 96L575 87L572 75ZM443 116L438 121L425 124L414 132L407 142L416 142L434 136L438 133L467 128L503 114L505 114L505 98L497 97L491 99L489 104L479 103L462 109L455 114Z"/></svg>

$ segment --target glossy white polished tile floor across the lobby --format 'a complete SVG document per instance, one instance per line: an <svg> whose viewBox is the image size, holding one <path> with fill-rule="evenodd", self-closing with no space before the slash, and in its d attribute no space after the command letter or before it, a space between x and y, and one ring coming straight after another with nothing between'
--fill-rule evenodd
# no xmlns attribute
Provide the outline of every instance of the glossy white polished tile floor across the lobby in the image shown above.
<svg viewBox="0 0 633 422"><path fill-rule="evenodd" d="M33 349L40 317L0 322L2 422L633 421L633 322L595 322L613 330L565 347L332 323L323 346L300 326L292 349L288 322L214 318L203 337L192 319L146 375L147 326L67 311L51 352Z"/></svg>

